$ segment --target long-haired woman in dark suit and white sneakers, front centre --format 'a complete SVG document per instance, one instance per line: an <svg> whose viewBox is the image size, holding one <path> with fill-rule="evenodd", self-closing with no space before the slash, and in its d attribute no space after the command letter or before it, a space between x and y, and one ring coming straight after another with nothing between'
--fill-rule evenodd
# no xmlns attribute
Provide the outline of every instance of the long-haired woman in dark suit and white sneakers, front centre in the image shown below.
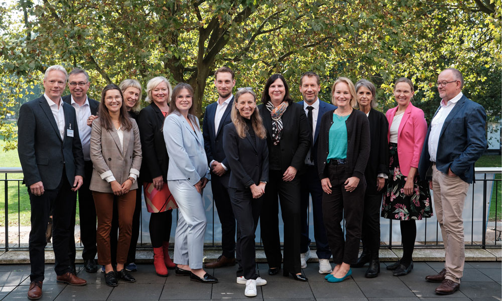
<svg viewBox="0 0 502 301"><path fill-rule="evenodd" d="M237 221L237 282L245 283L244 294L252 297L257 294L257 285L267 284L256 272L255 231L269 181L269 149L255 92L242 88L233 103L232 123L224 128L223 149L230 165L228 190Z"/></svg>

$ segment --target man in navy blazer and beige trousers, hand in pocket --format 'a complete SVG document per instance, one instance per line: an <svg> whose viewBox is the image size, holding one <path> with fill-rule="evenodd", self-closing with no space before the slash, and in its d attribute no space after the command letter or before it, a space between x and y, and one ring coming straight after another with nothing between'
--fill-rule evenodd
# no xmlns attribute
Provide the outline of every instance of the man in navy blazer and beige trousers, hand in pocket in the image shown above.
<svg viewBox="0 0 502 301"><path fill-rule="evenodd" d="M438 76L441 105L425 138L418 171L430 178L434 208L445 246L445 267L439 274L425 277L441 282L438 294L460 288L464 269L464 227L462 211L469 184L474 180L474 163L486 149L484 108L462 94L464 80L454 68ZM431 169L432 167L432 169Z"/></svg>

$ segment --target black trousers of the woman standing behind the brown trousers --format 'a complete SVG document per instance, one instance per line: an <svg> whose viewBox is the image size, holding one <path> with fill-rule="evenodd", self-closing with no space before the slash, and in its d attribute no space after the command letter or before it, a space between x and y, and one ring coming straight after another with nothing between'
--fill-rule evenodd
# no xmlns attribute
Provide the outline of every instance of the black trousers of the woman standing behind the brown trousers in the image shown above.
<svg viewBox="0 0 502 301"><path fill-rule="evenodd" d="M140 219L141 219L141 200L142 200L143 185L138 183L136 190L136 207L133 214L133 224L131 228L131 243L129 244L129 251L127 254L126 264L133 263L136 260L136 245L138 244L138 237L140 236ZM118 244L118 210L117 202L113 200L113 219L111 220L110 229L110 250L111 250L111 264L117 264L117 244Z"/></svg>

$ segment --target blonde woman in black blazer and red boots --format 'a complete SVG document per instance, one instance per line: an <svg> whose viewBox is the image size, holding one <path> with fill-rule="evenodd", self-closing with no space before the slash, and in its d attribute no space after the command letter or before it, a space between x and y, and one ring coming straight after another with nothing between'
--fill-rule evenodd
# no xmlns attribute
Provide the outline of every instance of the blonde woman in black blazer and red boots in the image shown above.
<svg viewBox="0 0 502 301"><path fill-rule="evenodd" d="M138 122L142 151L145 154L140 174L147 210L152 213L149 230L155 271L161 277L168 275L167 268L175 267L168 253L174 203L167 187L169 157L162 133L171 93L171 84L165 77L154 77L148 81L147 102L150 105L141 110Z"/></svg>

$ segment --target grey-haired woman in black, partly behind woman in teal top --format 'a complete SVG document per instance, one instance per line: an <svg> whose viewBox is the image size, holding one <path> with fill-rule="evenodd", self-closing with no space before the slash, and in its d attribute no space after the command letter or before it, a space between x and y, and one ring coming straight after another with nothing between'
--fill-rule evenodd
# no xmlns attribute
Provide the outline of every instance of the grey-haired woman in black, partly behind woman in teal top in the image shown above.
<svg viewBox="0 0 502 301"><path fill-rule="evenodd" d="M371 149L364 172L367 186L362 215L362 253L357 263L352 266L362 267L369 262L369 267L364 274L367 278L376 277L380 273L380 206L385 179L389 174L389 144L387 143L389 122L384 113L374 109L376 107L375 91L375 86L368 80L361 79L355 83L357 94L355 108L359 108L368 116Z"/></svg>

